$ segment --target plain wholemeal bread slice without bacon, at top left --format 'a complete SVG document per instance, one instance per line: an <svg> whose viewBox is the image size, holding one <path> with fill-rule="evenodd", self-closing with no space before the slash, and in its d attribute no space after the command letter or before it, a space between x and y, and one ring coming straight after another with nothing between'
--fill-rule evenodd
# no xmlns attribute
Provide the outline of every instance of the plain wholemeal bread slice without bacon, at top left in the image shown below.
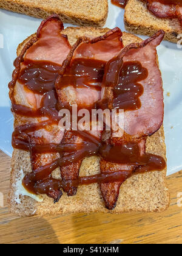
<svg viewBox="0 0 182 256"><path fill-rule="evenodd" d="M56 13L64 23L102 27L108 13L107 0L0 0L0 8L36 18Z"/></svg>

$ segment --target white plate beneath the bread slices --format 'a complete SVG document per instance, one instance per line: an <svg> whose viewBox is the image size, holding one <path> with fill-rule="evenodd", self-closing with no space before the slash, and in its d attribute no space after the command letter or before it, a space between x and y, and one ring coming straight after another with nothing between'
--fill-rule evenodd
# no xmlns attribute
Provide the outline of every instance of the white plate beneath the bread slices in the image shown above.
<svg viewBox="0 0 182 256"><path fill-rule="evenodd" d="M106 26L110 29L118 26L124 31L123 13L124 10L109 4ZM13 150L11 146L13 116L10 112L7 84L11 80L18 44L35 33L40 23L41 20L36 18L0 10L0 149L8 155L12 155ZM2 37L4 48L2 48ZM170 175L182 169L182 49L178 49L177 44L164 41L158 47L158 55L164 83L164 129L167 174ZM170 93L170 96L167 96L167 93Z"/></svg>

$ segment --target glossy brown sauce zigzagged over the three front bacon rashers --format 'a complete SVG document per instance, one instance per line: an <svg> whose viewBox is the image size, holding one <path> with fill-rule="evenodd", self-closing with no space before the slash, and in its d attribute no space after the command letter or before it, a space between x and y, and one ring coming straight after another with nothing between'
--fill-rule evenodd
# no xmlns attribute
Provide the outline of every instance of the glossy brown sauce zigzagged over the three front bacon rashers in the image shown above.
<svg viewBox="0 0 182 256"><path fill-rule="evenodd" d="M15 61L16 68L20 61L20 59ZM90 133L81 132L79 130L72 132L83 139L83 143L81 144L47 144L38 146L30 143L27 138L30 132L44 127L46 128L46 126L50 124L58 124L58 98L54 84L58 76L57 71L59 67L48 62L25 62L24 64L25 68L22 69L19 74L16 72L13 75L10 88L13 87L13 85L15 86L15 78L18 77L19 83L24 84L25 87L29 88L33 93L43 96L41 107L32 110L32 108L15 104L12 98L12 110L17 115L35 118L47 116L48 119L41 123L24 124L16 127L15 132L13 132L13 147L38 153L69 153L64 157L56 159L49 165L45 165L27 174L22 184L28 191L35 194L49 194L51 189L60 190L67 186L78 187L79 185L88 185L96 182L124 181L127 177L132 175L130 172L121 170L119 172L98 174L90 177L79 177L79 179L67 182L51 178L52 171L59 166L70 165L70 163L78 162L92 155L101 155L101 157L108 162L138 166L136 173L162 170L165 168L166 163L162 157L152 154L144 154L141 156L138 143L124 143L120 146L107 145ZM110 81L115 81L113 83L113 106L115 108L122 107L125 110L140 108L140 96L143 94L143 87L138 82L147 77L147 70L141 66L140 62L122 63L121 60L117 60L111 63L111 65L115 65L114 68L118 70L117 76L119 77L118 83L118 80L112 77L112 72L109 73ZM70 68L67 69L66 74L64 74L60 86L62 88L70 84L75 88L94 87L96 90L101 91L104 67L104 63L97 60L76 59ZM107 86L109 86L109 84ZM125 99L124 103L123 99Z"/></svg>

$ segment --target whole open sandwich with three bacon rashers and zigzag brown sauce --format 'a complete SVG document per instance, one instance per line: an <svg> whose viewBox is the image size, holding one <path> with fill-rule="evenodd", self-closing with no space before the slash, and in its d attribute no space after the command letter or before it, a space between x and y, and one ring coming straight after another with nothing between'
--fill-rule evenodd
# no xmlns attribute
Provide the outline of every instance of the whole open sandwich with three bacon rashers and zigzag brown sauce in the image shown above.
<svg viewBox="0 0 182 256"><path fill-rule="evenodd" d="M156 50L163 38L163 30L142 41L118 27L64 29L52 15L19 44L8 85L15 117L11 212L161 212L169 206ZM107 130L105 120L103 129L62 129L60 111L74 116L73 105L88 113L123 110L123 126Z"/></svg>

